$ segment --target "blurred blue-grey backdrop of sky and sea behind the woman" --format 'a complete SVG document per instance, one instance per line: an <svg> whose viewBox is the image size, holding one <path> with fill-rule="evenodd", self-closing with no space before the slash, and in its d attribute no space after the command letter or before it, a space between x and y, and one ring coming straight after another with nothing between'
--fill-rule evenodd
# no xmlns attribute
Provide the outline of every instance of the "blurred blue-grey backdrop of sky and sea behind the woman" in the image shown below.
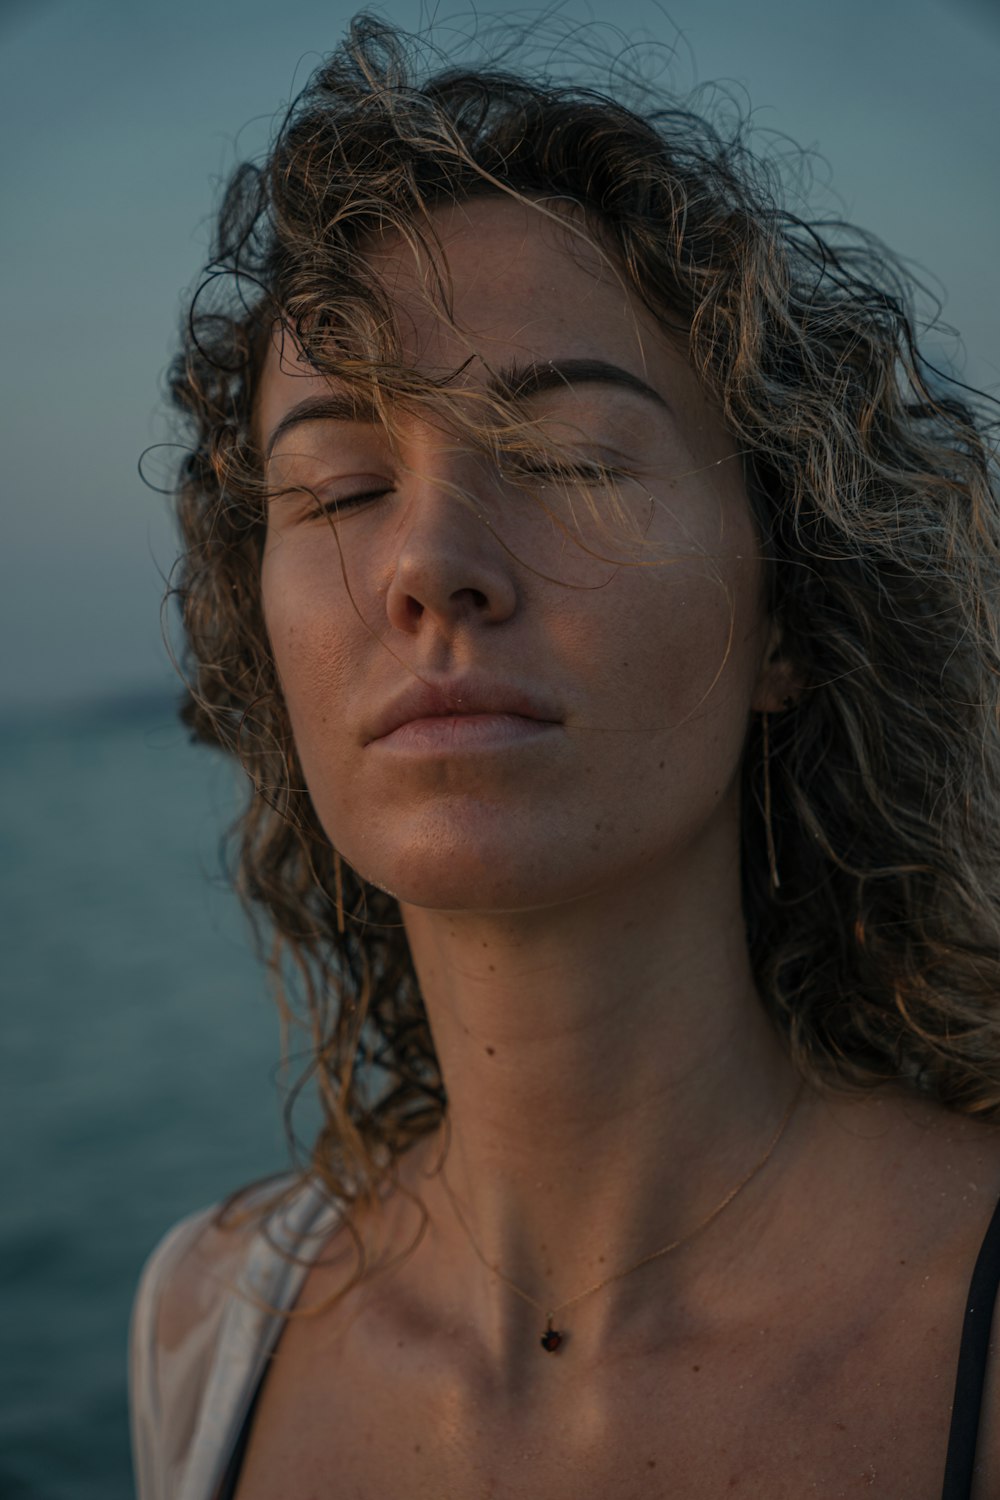
<svg viewBox="0 0 1000 1500"><path fill-rule="evenodd" d="M352 9L0 0L4 1500L130 1494L142 1257L285 1161L277 1028L219 878L234 786L172 722L172 542L136 462L169 436L160 378L219 180ZM429 18L415 0L376 9ZM552 9L592 16L612 52L655 38L667 84L720 81L763 146L814 148L820 208L916 262L964 334L934 352L997 393L996 0ZM457 0L430 18L450 51L475 28Z"/></svg>

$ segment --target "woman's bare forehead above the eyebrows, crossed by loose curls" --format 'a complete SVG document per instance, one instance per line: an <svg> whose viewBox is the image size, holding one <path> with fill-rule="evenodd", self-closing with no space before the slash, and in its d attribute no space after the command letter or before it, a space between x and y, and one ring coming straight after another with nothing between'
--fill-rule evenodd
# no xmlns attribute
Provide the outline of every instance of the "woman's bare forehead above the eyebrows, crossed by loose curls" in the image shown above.
<svg viewBox="0 0 1000 1500"><path fill-rule="evenodd" d="M475 386L486 382L487 366L613 363L663 394L702 453L732 448L678 342L579 208L495 195L435 208L432 220L441 244L433 264L397 232L366 254L390 298L406 366ZM276 332L258 393L262 438L289 406L330 384Z"/></svg>

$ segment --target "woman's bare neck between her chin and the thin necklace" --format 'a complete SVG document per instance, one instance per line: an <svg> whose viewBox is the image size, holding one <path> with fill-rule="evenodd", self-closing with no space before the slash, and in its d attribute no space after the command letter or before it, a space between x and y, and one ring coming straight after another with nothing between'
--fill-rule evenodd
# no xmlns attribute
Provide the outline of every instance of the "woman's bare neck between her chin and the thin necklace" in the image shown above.
<svg viewBox="0 0 1000 1500"><path fill-rule="evenodd" d="M495 1353L525 1348L526 1329L534 1353L544 1318L469 1238L553 1308L705 1220L793 1095L753 986L738 872L720 880L705 850L679 876L643 873L570 906L408 908L405 921L448 1095L447 1186L466 1226L430 1178L438 1260L483 1310ZM726 1209L730 1226L750 1196ZM661 1262L655 1286L682 1264L690 1254ZM648 1306L649 1284L645 1272L610 1282L574 1306L576 1328L600 1348Z"/></svg>

